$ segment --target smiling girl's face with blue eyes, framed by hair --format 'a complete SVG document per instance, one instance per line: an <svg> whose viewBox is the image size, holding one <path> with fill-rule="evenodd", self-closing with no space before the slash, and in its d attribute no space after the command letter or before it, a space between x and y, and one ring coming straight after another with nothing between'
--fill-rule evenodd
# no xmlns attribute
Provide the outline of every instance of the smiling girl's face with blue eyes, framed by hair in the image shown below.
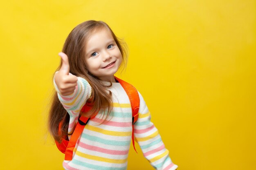
<svg viewBox="0 0 256 170"><path fill-rule="evenodd" d="M89 37L85 44L85 62L88 71L99 79L114 80L122 55L110 31L100 29Z"/></svg>

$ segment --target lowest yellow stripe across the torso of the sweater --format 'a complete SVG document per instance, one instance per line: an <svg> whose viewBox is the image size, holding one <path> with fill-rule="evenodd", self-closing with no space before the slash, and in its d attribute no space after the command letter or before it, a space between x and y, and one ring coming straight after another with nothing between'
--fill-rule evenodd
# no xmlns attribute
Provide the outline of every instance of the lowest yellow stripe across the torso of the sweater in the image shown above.
<svg viewBox="0 0 256 170"><path fill-rule="evenodd" d="M79 152L78 150L76 150L76 155L78 155L79 157L86 158L86 159L92 159L92 160L108 162L108 163L125 163L127 161L127 159L109 159L106 157L98 157L98 156L94 156L94 155L88 155L88 154Z"/></svg>

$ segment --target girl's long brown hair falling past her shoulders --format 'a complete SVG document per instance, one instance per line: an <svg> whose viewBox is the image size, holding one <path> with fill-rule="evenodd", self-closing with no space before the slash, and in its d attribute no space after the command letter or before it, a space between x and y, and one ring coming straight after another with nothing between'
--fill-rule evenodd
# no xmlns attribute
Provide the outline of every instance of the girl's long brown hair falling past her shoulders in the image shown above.
<svg viewBox="0 0 256 170"><path fill-rule="evenodd" d="M128 57L127 45L124 41L117 38L117 36L113 33L108 24L103 21L88 20L76 26L67 36L62 52L67 54L68 56L70 73L78 77L83 77L92 86L92 96L90 97L90 99L88 99L87 102L93 103L93 106L92 109L88 113L86 113L86 116L92 117L95 113L98 113L101 108L104 108L106 110L106 120L112 110L111 92L106 91L106 88L109 86L102 84L98 77L92 75L88 71L84 57L85 44L89 36L92 35L94 31L97 31L99 29L108 29L111 32L122 55L123 60L121 66L125 68ZM61 65L62 63L60 63L56 71L61 68ZM110 86L111 85L112 83L110 84ZM67 132L69 119L70 117L67 113L67 110L65 110L65 108L59 101L57 92L54 91L48 117L48 128L49 132L56 141L61 142L63 136L70 135ZM61 133L59 133L58 126L61 121L63 123L60 127Z"/></svg>

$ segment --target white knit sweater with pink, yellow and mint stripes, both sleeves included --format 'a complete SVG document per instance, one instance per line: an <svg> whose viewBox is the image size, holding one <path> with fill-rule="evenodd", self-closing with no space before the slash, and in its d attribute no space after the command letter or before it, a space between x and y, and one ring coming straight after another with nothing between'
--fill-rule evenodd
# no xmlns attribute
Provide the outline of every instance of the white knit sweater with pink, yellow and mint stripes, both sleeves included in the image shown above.
<svg viewBox="0 0 256 170"><path fill-rule="evenodd" d="M103 82L109 85L110 82ZM92 93L88 81L78 77L77 86L71 95L62 96L54 82L58 99L70 115L68 132L74 131L79 112ZM132 136L132 110L128 96L119 83L108 88L112 92L113 110L107 121L99 125L105 115L101 110L88 121L76 147L72 161L63 161L65 170L126 170L127 157ZM150 112L139 93L139 118L134 126L135 141L139 144L144 157L156 170L175 170L177 165L168 156L169 151L150 121Z"/></svg>

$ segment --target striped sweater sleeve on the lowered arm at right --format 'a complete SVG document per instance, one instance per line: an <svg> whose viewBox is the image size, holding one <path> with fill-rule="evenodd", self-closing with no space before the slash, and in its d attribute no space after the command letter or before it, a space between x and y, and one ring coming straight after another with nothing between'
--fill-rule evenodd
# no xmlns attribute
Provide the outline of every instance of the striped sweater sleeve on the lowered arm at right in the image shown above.
<svg viewBox="0 0 256 170"><path fill-rule="evenodd" d="M157 128L150 121L150 112L140 93L139 98L139 118L134 125L135 141L144 157L156 170L176 170L178 166L171 161L169 151L165 148Z"/></svg>

